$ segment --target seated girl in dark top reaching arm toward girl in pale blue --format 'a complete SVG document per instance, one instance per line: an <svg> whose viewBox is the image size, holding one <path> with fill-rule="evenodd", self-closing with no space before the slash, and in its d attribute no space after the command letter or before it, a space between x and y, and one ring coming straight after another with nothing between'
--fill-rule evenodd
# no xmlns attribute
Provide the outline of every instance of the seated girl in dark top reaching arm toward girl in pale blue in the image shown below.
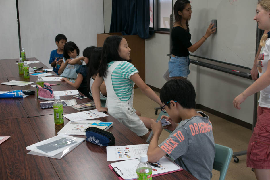
<svg viewBox="0 0 270 180"><path fill-rule="evenodd" d="M78 89L78 91L80 91L82 94L84 94L85 96L87 96L88 98L92 98L88 91L87 91L87 71L88 71L88 67L89 67L89 60L92 54L92 51L95 49L95 46L90 46L84 49L83 53L82 53L82 57L81 59L84 60L86 65L80 65L79 69L76 70L76 73L78 74L75 82L70 82L67 78L62 78L62 81L67 82L68 84L70 84L71 86L73 86L74 88ZM72 59L68 62L68 64L70 65L75 65L77 64L80 60L80 58L76 58L76 59Z"/></svg>

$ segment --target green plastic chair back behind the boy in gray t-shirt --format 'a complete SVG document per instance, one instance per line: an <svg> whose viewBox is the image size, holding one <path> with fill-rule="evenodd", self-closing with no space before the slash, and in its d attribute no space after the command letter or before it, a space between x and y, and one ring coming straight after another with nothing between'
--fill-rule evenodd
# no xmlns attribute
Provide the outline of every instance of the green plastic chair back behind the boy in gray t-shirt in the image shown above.
<svg viewBox="0 0 270 180"><path fill-rule="evenodd" d="M220 172L219 180L224 180L232 158L232 148L215 144L216 154L213 169Z"/></svg>

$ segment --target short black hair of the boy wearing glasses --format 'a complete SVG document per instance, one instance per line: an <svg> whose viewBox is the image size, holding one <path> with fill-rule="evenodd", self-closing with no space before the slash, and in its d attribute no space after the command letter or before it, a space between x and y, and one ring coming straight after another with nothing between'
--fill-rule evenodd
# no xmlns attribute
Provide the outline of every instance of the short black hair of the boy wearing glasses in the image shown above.
<svg viewBox="0 0 270 180"><path fill-rule="evenodd" d="M183 108L195 109L196 93L193 85L186 79L172 79L166 82L160 90L160 100L163 104L177 101ZM166 104L170 108L170 103Z"/></svg>

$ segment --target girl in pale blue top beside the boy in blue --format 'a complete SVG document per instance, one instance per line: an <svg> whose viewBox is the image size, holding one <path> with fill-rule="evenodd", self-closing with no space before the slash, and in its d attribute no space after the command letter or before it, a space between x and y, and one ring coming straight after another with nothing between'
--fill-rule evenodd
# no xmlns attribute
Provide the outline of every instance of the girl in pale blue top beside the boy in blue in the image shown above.
<svg viewBox="0 0 270 180"><path fill-rule="evenodd" d="M75 82L77 78L76 70L79 69L80 65L82 65L84 59L84 57L78 57L79 54L80 50L74 42L69 41L65 44L63 63L58 70L60 77L68 78L70 82ZM78 60L76 64L72 65L68 63L71 59L75 58Z"/></svg>

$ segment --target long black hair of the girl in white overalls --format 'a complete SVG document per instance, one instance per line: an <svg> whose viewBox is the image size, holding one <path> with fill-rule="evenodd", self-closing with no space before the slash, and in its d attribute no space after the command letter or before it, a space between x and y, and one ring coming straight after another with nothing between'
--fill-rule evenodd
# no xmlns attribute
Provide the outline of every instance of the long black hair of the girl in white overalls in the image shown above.
<svg viewBox="0 0 270 180"><path fill-rule="evenodd" d="M105 39L102 53L101 53L101 62L99 65L99 76L105 77L107 74L108 63L112 61L128 61L131 62L130 59L122 59L119 56L118 50L122 36L109 36Z"/></svg>

